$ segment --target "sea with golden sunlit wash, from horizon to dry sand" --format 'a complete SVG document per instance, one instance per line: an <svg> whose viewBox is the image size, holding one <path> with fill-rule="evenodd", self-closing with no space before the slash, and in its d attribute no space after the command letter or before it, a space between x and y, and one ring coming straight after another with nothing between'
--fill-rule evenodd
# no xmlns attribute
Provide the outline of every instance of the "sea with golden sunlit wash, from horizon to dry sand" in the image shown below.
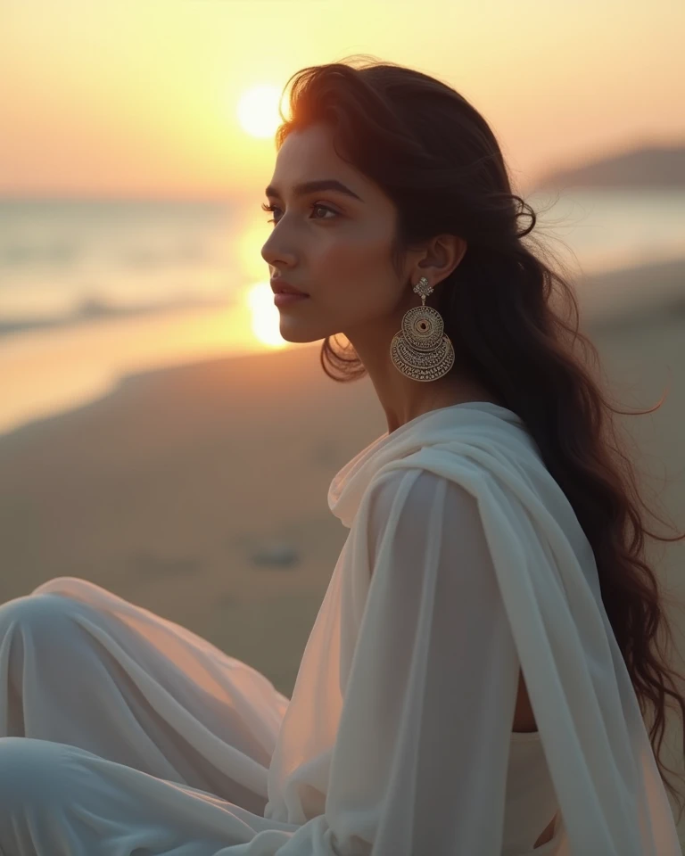
<svg viewBox="0 0 685 856"><path fill-rule="evenodd" d="M585 276L685 256L682 190L524 198L533 234ZM261 202L0 198L0 431L122 374L285 345Z"/></svg>

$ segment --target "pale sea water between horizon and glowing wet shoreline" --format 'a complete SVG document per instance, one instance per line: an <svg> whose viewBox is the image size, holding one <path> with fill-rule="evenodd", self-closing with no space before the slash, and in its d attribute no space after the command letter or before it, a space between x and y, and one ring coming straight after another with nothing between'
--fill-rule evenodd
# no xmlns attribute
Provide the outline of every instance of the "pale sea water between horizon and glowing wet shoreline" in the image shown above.
<svg viewBox="0 0 685 856"><path fill-rule="evenodd" d="M525 198L536 210L552 200ZM0 199L0 336L236 300L255 278L235 252L241 210L214 201ZM679 258L685 193L568 193L541 213L535 234L565 258L574 253L590 275ZM254 261L267 280L259 246Z"/></svg>

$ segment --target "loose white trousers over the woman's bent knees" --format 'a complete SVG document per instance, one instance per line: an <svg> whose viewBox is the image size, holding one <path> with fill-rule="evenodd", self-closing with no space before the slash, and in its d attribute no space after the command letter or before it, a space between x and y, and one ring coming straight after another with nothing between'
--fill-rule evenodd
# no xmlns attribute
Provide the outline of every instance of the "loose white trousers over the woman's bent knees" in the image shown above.
<svg viewBox="0 0 685 856"><path fill-rule="evenodd" d="M293 829L263 817L287 704L259 671L87 580L0 605L0 853L215 856Z"/></svg>

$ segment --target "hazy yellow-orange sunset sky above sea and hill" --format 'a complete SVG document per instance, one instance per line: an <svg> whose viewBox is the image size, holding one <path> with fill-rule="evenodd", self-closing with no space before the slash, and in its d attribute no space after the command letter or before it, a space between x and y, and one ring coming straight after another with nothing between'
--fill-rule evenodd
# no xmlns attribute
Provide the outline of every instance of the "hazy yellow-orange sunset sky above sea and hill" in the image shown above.
<svg viewBox="0 0 685 856"><path fill-rule="evenodd" d="M454 86L524 188L685 141L683 35L683 0L0 0L0 194L263 196L241 97L353 53Z"/></svg>

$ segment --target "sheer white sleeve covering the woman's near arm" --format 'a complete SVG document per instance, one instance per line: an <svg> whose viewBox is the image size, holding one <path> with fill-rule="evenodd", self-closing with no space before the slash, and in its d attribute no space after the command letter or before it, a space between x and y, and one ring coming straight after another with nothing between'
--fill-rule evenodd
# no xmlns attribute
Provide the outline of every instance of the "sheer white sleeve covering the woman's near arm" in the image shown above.
<svg viewBox="0 0 685 856"><path fill-rule="evenodd" d="M278 853L492 856L519 661L476 500L395 469L369 487L355 526L372 576L326 811Z"/></svg>

